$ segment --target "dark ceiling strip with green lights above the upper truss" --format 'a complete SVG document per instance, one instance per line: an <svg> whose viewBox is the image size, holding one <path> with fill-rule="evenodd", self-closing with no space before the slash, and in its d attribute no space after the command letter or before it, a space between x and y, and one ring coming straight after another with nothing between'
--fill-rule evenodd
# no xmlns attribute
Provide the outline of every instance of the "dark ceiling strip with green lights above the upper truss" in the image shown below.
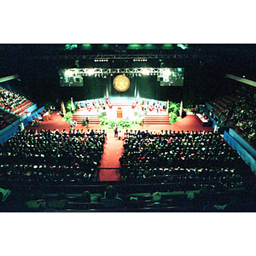
<svg viewBox="0 0 256 256"><path fill-rule="evenodd" d="M0 44L1 56L73 55L73 54L196 54L212 57L256 56L255 44Z"/></svg>

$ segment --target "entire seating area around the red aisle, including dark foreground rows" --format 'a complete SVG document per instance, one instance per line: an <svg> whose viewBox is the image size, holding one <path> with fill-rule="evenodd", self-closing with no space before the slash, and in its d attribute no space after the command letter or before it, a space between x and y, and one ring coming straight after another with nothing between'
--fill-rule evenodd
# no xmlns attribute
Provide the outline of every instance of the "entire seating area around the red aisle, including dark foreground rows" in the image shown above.
<svg viewBox="0 0 256 256"><path fill-rule="evenodd" d="M96 181L105 140L104 131L17 133L0 150L0 187L15 195L4 211L256 211L255 175L218 134L126 131L118 183ZM102 201L109 184L118 203Z"/></svg>

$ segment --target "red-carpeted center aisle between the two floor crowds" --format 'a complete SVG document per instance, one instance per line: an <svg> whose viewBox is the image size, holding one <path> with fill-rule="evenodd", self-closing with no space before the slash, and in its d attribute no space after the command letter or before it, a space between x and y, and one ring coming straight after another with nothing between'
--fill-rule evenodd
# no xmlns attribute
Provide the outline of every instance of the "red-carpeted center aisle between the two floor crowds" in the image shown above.
<svg viewBox="0 0 256 256"><path fill-rule="evenodd" d="M99 177L100 181L119 181L119 158L124 152L123 141L117 137L113 137L113 131L108 131L108 140L104 144L104 152L102 154L101 169Z"/></svg>

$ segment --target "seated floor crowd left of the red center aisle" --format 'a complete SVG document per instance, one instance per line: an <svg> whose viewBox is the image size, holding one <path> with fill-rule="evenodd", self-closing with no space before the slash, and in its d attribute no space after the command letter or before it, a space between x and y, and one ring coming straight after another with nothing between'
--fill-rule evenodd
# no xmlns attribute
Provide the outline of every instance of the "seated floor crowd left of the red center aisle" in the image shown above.
<svg viewBox="0 0 256 256"><path fill-rule="evenodd" d="M2 181L76 181L100 165L106 132L24 130L0 145Z"/></svg>

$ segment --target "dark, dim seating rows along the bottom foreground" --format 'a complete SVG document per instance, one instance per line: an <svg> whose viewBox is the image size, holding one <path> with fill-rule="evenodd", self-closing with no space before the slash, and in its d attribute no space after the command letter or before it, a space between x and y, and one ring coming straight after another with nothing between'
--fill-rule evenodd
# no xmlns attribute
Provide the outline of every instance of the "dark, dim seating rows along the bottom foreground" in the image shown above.
<svg viewBox="0 0 256 256"><path fill-rule="evenodd" d="M143 188L148 191L146 193L129 193L127 188L130 184L123 183L113 185L118 191L117 203L102 200L107 186L94 184L80 187L80 190L88 192L89 200L84 200L84 193L50 193L50 187L42 194L23 193L22 206L10 208L10 211L21 208L26 212L256 212L255 190L230 189L217 193L203 187L187 192L161 192L161 198L156 202L154 193L149 192L149 184ZM141 186L137 183L132 187L137 191Z"/></svg>

